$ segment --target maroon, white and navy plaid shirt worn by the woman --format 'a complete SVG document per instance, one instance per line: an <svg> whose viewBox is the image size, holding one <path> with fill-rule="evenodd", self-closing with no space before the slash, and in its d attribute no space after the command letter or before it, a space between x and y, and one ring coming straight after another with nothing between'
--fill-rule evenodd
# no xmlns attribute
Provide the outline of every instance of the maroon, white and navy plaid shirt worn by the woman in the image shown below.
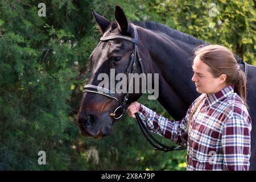
<svg viewBox="0 0 256 182"><path fill-rule="evenodd" d="M196 102L204 97L187 121ZM201 94L185 117L173 121L141 105L138 111L148 129L187 146L187 170L249 170L251 118L232 86L208 96Z"/></svg>

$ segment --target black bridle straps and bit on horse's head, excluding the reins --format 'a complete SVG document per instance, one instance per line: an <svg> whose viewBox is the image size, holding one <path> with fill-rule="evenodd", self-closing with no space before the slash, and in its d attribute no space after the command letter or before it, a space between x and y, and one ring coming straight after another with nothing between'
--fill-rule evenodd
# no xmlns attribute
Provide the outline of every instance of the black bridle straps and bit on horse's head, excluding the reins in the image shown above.
<svg viewBox="0 0 256 182"><path fill-rule="evenodd" d="M133 52L131 53L130 60L129 60L129 63L127 65L125 74L135 73L135 71L136 71L136 63L137 62L139 64L140 68L141 68L141 72L144 73L144 68L143 68L141 56L139 55L139 50L138 50L138 45L139 45L138 33L137 33L137 30L136 30L135 26L133 24L131 24L131 25L134 28L134 39L130 38L129 36L124 36L124 35L113 35L113 36L101 37L100 40L101 41L106 41L106 40L113 40L113 39L123 39L123 40L127 40L129 42L132 42L134 44L134 49L133 49ZM137 57L138 57L138 59L137 59ZM131 77L131 79L132 79L132 77ZM129 88L130 88L130 83L131 83L131 81L129 80ZM121 118L123 113L125 113L125 111L126 111L125 110L125 104L128 101L129 92L127 92L125 94L125 96L123 97L123 99L121 101L119 101L118 96L117 96L116 93L113 93L109 89L102 88L100 86L85 85L84 89L83 89L83 92L98 93L98 94L102 94L102 95L104 95L106 97L113 98L114 100L117 100L119 102L119 105L117 106L117 108L115 108L113 113L109 114L114 119ZM117 114L116 114L118 110L121 110L121 115L119 115L119 116L117 116Z"/></svg>

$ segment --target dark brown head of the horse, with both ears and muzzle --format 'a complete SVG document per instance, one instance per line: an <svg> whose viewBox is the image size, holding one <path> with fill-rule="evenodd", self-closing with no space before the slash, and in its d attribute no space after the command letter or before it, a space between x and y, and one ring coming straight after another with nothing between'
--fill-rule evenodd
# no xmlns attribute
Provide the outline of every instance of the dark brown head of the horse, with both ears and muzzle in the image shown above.
<svg viewBox="0 0 256 182"><path fill-rule="evenodd" d="M125 73L127 69L130 69L129 64L130 61L133 61L131 55L134 54L136 41L129 40L135 36L134 27L127 21L121 7L115 7L114 22L110 22L94 10L92 10L92 14L102 38L89 57L92 72L84 89L77 123L80 133L85 137L100 138L110 135L113 123L121 118L127 106L138 100L141 94L129 94L128 99L125 93L112 93L109 88L104 89L102 85L100 86L102 80L99 78L112 77L111 71L114 70L115 77L118 73ZM107 38L107 41L104 41L104 38ZM113 77L105 80L105 84L112 85L111 81L113 81ZM113 85L116 84L117 81L114 79ZM112 95L113 97L111 97ZM122 102L124 100L125 103ZM122 106L120 106L121 103ZM113 117L114 115L115 117Z"/></svg>

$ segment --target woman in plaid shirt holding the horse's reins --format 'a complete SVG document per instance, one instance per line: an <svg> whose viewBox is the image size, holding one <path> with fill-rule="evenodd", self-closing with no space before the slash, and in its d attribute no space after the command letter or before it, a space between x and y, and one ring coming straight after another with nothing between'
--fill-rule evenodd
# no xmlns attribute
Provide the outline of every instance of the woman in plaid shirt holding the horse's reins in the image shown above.
<svg viewBox="0 0 256 182"><path fill-rule="evenodd" d="M246 77L232 52L218 45L195 52L193 77L201 93L181 121L172 121L133 102L127 108L148 129L187 145L187 170L249 170L251 118Z"/></svg>

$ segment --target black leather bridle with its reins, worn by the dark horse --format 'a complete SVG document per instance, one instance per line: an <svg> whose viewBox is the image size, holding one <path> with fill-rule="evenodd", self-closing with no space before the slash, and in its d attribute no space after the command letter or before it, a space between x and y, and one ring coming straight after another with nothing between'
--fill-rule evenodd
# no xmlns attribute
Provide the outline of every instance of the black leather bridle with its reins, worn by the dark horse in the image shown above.
<svg viewBox="0 0 256 182"><path fill-rule="evenodd" d="M125 74L130 73L135 73L136 72L136 64L138 62L139 67L141 68L141 73L144 73L144 67L143 67L143 63L142 63L142 59L141 56L139 55L139 50L138 50L138 45L139 45L139 40L138 40L138 33L137 33L137 29L135 28L135 26L133 24L131 24L131 26L134 29L134 38L130 38L129 36L124 36L124 35L113 35L113 36L105 36L105 37L101 37L100 40L101 41L106 41L106 40L113 40L113 39L123 39L123 40L127 40L129 42L132 42L134 44L134 49L133 52L131 53L130 59L129 59L129 63L127 65ZM137 59L138 57L138 59ZM129 77L132 79L132 77ZM129 86L128 88L130 88L130 83L131 81L129 80ZM129 92L127 92L125 94L125 96L123 97L123 99L121 101L118 100L118 96L112 92L109 89L106 88L102 88L100 86L96 86L96 85L85 85L83 92L92 92L92 93L98 93L98 94L102 94L106 97L109 98L113 98L114 100L119 102L119 106L117 106L117 108L115 108L115 110L113 111L113 113L110 113L109 115L111 117L113 117L114 119L119 119L122 117L123 113L125 113L126 109L125 109L125 104L129 99ZM121 110L121 114L119 116L117 116L117 111ZM148 140L148 142L155 148L155 150L160 150L160 151L172 151L172 150L184 150L184 147L181 146L166 146L163 143L160 143L158 140L156 140L151 134L150 131L148 131L147 127L144 126L143 121L141 120L141 118L139 117L138 113L135 113L135 116L137 118L137 122L139 124L140 129L142 130L142 133L144 135L144 137ZM148 137L147 137L148 135ZM151 138L151 139L150 139ZM153 143L153 141L156 143Z"/></svg>

